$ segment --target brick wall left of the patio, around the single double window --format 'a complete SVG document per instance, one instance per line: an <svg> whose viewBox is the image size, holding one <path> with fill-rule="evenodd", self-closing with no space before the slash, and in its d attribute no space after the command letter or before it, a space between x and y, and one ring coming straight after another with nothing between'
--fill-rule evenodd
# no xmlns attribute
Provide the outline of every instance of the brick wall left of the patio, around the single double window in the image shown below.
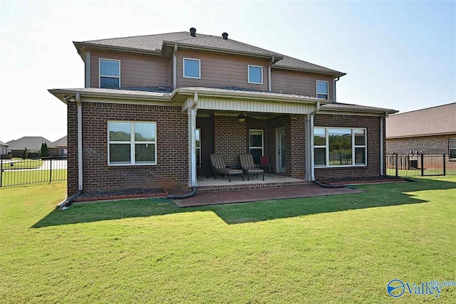
<svg viewBox="0 0 456 304"><path fill-rule="evenodd" d="M77 190L77 110L68 105L68 195ZM157 165L108 166L108 120L157 123ZM187 114L180 107L83 103L83 189L181 187L188 179Z"/></svg>

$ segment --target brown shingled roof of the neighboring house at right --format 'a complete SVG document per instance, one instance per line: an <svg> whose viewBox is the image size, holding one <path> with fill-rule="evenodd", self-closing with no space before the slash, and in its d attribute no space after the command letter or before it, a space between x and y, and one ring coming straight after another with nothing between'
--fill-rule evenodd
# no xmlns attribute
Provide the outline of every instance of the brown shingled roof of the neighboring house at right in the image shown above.
<svg viewBox="0 0 456 304"><path fill-rule="evenodd" d="M386 138L456 134L456 103L386 118Z"/></svg>

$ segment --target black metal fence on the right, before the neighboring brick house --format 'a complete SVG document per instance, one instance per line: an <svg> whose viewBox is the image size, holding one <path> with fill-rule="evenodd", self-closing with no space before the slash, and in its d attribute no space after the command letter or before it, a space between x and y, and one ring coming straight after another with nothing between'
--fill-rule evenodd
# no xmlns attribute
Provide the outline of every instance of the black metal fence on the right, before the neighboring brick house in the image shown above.
<svg viewBox="0 0 456 304"><path fill-rule="evenodd" d="M449 154L386 154L386 174L394 177L456 175Z"/></svg>

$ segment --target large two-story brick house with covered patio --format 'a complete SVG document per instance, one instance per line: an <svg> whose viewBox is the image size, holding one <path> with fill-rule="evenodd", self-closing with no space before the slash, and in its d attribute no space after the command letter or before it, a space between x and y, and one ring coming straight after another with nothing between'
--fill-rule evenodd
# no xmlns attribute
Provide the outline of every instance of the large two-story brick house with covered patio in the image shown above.
<svg viewBox="0 0 456 304"><path fill-rule="evenodd" d="M397 111L336 103L345 73L195 28L74 45L86 87L49 90L68 108L69 195L195 187L211 153L303 181L385 172Z"/></svg>

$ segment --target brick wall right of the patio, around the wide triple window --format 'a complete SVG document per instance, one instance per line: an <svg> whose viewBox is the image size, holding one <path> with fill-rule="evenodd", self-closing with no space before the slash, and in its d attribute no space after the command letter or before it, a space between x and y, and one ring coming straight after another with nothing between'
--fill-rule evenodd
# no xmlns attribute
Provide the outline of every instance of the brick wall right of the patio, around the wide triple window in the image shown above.
<svg viewBox="0 0 456 304"><path fill-rule="evenodd" d="M383 142L385 142L385 118L383 119ZM315 168L316 179L330 177L376 177L380 175L380 117L358 115L316 114L315 127L366 127L368 165L365 167L323 167ZM386 148L383 145L383 163ZM385 165L383 166L385 168ZM385 169L383 169L385 172Z"/></svg>

